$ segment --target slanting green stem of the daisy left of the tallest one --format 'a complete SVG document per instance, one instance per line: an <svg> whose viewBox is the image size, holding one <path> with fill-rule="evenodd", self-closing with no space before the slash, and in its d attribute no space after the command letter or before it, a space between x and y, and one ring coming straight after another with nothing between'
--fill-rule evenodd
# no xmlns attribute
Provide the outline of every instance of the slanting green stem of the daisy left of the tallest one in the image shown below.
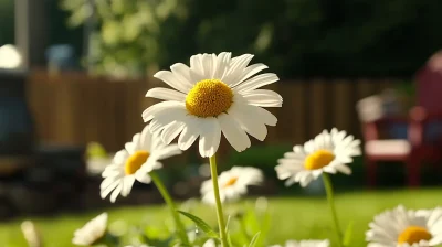
<svg viewBox="0 0 442 247"><path fill-rule="evenodd" d="M182 224L177 208L175 206L173 200L170 196L169 192L167 191L166 186L162 184L161 180L159 179L158 174L155 172L149 172L150 178L152 179L155 185L158 187L159 193L161 193L162 198L165 200L165 202L167 203L167 205L170 208L170 213L172 214L173 221L175 221L175 225L178 232L179 237L181 238L182 244L185 245L189 245L189 238L187 236L187 232L185 228L185 225Z"/></svg>

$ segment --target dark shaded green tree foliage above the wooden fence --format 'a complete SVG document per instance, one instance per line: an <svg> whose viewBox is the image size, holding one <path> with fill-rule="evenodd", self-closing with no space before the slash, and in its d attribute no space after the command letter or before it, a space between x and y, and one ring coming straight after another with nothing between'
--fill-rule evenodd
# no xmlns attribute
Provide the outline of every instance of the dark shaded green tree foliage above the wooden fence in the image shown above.
<svg viewBox="0 0 442 247"><path fill-rule="evenodd" d="M95 10L101 73L144 75L231 51L256 54L281 77L412 75L442 43L438 0L97 0L93 9L86 1L62 7L71 25Z"/></svg>

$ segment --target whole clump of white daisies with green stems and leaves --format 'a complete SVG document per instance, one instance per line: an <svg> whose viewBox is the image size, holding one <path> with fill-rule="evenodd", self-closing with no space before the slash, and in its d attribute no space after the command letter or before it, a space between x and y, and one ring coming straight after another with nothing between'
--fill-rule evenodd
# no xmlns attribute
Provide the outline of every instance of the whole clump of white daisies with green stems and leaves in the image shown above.
<svg viewBox="0 0 442 247"><path fill-rule="evenodd" d="M263 141L267 136L267 127L276 126L276 117L265 108L282 107L283 99L277 93L261 87L278 82L278 77L273 73L261 73L267 66L250 64L252 58L251 54L232 57L228 52L197 54L190 57L189 65L177 63L170 66L170 71L155 74L156 78L171 88L151 88L147 92L146 97L164 101L148 107L141 114L146 127L115 154L102 173L103 200L108 198L115 203L118 196L129 196L135 182L154 183L170 210L175 223L170 236L152 239L137 229L143 240L138 239L135 246L261 247L272 240L265 239L265 233L262 234L260 229L250 230L252 226L246 222L250 218L244 215L252 214L243 214L248 211L233 217L227 217L223 212L223 204L238 201L248 193L249 186L264 182L262 171L252 167L233 167L219 174L215 158L222 136L234 150L241 152L251 147L250 136ZM172 143L173 140L177 142ZM215 206L215 229L196 215L178 211L157 174L162 168L162 160L181 154L194 142L198 143L199 154L209 158L211 179L202 183L200 192L202 202ZM293 151L285 153L275 167L277 178L285 180L287 186L298 183L305 187L319 176L324 180L339 247L349 246L344 240L349 236L345 236L338 222L330 174L351 174L350 163L360 154L360 140L334 128L324 130L303 146L293 147ZM245 206L241 207L243 210ZM251 216L250 219L254 223L250 225L265 228L265 221L261 221L257 215L265 217L266 210L267 200L256 200L253 211L255 218ZM198 234L194 225L187 227L183 224L183 216L197 225ZM231 234L230 221L236 221L241 239L235 239L235 235ZM441 221L441 207L410 211L399 206L376 216L369 225L366 239L369 247L435 246L442 244ZM35 238L35 234L28 235L30 239ZM77 229L72 241L81 246L122 246L117 237L107 230L106 213ZM127 245L130 246L134 245ZM329 247L330 241L287 240L283 246Z"/></svg>

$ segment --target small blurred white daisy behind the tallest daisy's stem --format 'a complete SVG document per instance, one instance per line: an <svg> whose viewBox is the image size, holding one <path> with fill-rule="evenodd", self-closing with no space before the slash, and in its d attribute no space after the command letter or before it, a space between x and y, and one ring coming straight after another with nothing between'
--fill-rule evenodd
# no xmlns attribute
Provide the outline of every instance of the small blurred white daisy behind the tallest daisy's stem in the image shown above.
<svg viewBox="0 0 442 247"><path fill-rule="evenodd" d="M260 185L264 175L260 169L233 167L231 170L222 172L218 178L221 202L227 200L234 201L248 193L248 186ZM201 184L202 201L214 204L213 182L204 181Z"/></svg>

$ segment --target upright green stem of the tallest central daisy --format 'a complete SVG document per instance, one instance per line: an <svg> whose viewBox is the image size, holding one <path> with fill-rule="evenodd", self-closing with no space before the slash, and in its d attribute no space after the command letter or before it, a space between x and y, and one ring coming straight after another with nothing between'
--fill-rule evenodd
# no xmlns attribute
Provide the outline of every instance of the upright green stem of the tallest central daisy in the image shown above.
<svg viewBox="0 0 442 247"><path fill-rule="evenodd" d="M210 172L211 172L212 182L213 182L214 200L217 202L218 226L220 228L221 244L222 244L222 247L229 247L228 235L225 234L224 213L222 212L222 204L221 204L221 198L220 198L220 187L218 184L215 155L213 154L211 158L209 158L209 161L210 161Z"/></svg>

